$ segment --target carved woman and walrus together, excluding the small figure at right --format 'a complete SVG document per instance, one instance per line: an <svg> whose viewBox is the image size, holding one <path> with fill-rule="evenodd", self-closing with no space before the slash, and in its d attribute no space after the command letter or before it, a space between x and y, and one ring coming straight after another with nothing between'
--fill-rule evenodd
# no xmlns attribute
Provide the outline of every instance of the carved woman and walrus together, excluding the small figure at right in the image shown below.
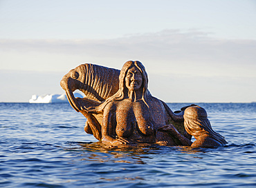
<svg viewBox="0 0 256 188"><path fill-rule="evenodd" d="M127 61L121 71L93 64L80 65L61 81L71 106L86 117L85 132L106 145L179 145L179 139L157 131L170 123L190 139L183 126L183 111L172 112L163 101L150 94L147 84L147 72L139 61ZM75 98L75 90L82 91L85 97Z"/></svg>

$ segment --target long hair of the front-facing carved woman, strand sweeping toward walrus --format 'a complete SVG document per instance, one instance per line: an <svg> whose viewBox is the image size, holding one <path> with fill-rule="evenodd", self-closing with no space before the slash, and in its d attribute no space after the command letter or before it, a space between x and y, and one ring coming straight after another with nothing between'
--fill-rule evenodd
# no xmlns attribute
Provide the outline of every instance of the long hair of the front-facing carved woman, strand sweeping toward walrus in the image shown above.
<svg viewBox="0 0 256 188"><path fill-rule="evenodd" d="M125 98L125 92L127 91L127 87L125 85L125 76L127 76L127 71L129 68L136 66L138 70L140 70L140 73L143 76L143 84L141 87L143 87L143 96L142 99L144 103L149 107L147 104L148 98L152 97L149 91L147 90L147 85L148 85L148 78L147 78L147 72L145 70L145 67L143 66L140 61L127 61L125 65L122 66L122 70L120 71L119 75L119 90L114 94L113 96L107 98L106 101L104 101L102 104L100 104L98 107L89 107L86 109L87 112L89 113L95 113L95 114L100 114L104 110L104 107L110 103L111 101L121 101L122 99Z"/></svg>

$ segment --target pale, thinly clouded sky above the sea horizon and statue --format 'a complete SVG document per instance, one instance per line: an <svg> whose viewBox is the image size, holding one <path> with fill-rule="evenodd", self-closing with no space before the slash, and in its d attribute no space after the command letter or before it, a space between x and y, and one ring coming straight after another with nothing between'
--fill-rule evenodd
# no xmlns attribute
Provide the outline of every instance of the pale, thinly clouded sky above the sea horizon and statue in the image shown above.
<svg viewBox="0 0 256 188"><path fill-rule="evenodd" d="M82 63L138 60L167 103L250 103L255 23L254 0L0 0L0 102L62 94Z"/></svg>

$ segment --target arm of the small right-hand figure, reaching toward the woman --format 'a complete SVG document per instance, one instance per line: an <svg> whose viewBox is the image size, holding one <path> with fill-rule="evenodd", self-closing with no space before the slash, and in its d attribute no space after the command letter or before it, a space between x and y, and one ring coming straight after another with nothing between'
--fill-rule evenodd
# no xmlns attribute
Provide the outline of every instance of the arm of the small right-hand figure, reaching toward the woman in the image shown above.
<svg viewBox="0 0 256 188"><path fill-rule="evenodd" d="M192 141L180 134L177 129L174 127L174 125L165 125L163 127L160 127L158 129L159 132L167 132L174 136L175 138L179 139L181 141L182 145L190 146L192 145Z"/></svg>

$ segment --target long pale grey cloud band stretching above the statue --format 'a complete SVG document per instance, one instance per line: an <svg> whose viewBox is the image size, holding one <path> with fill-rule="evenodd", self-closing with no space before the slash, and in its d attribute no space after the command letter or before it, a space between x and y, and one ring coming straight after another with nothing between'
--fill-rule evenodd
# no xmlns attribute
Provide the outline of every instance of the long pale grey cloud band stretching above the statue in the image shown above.
<svg viewBox="0 0 256 188"><path fill-rule="evenodd" d="M118 39L1 39L1 51L48 52L68 54L89 54L106 57L136 54L156 59L192 61L228 59L232 63L251 63L255 61L255 40L213 39L208 33L199 31L181 32L163 30L162 32L136 34Z"/></svg>

